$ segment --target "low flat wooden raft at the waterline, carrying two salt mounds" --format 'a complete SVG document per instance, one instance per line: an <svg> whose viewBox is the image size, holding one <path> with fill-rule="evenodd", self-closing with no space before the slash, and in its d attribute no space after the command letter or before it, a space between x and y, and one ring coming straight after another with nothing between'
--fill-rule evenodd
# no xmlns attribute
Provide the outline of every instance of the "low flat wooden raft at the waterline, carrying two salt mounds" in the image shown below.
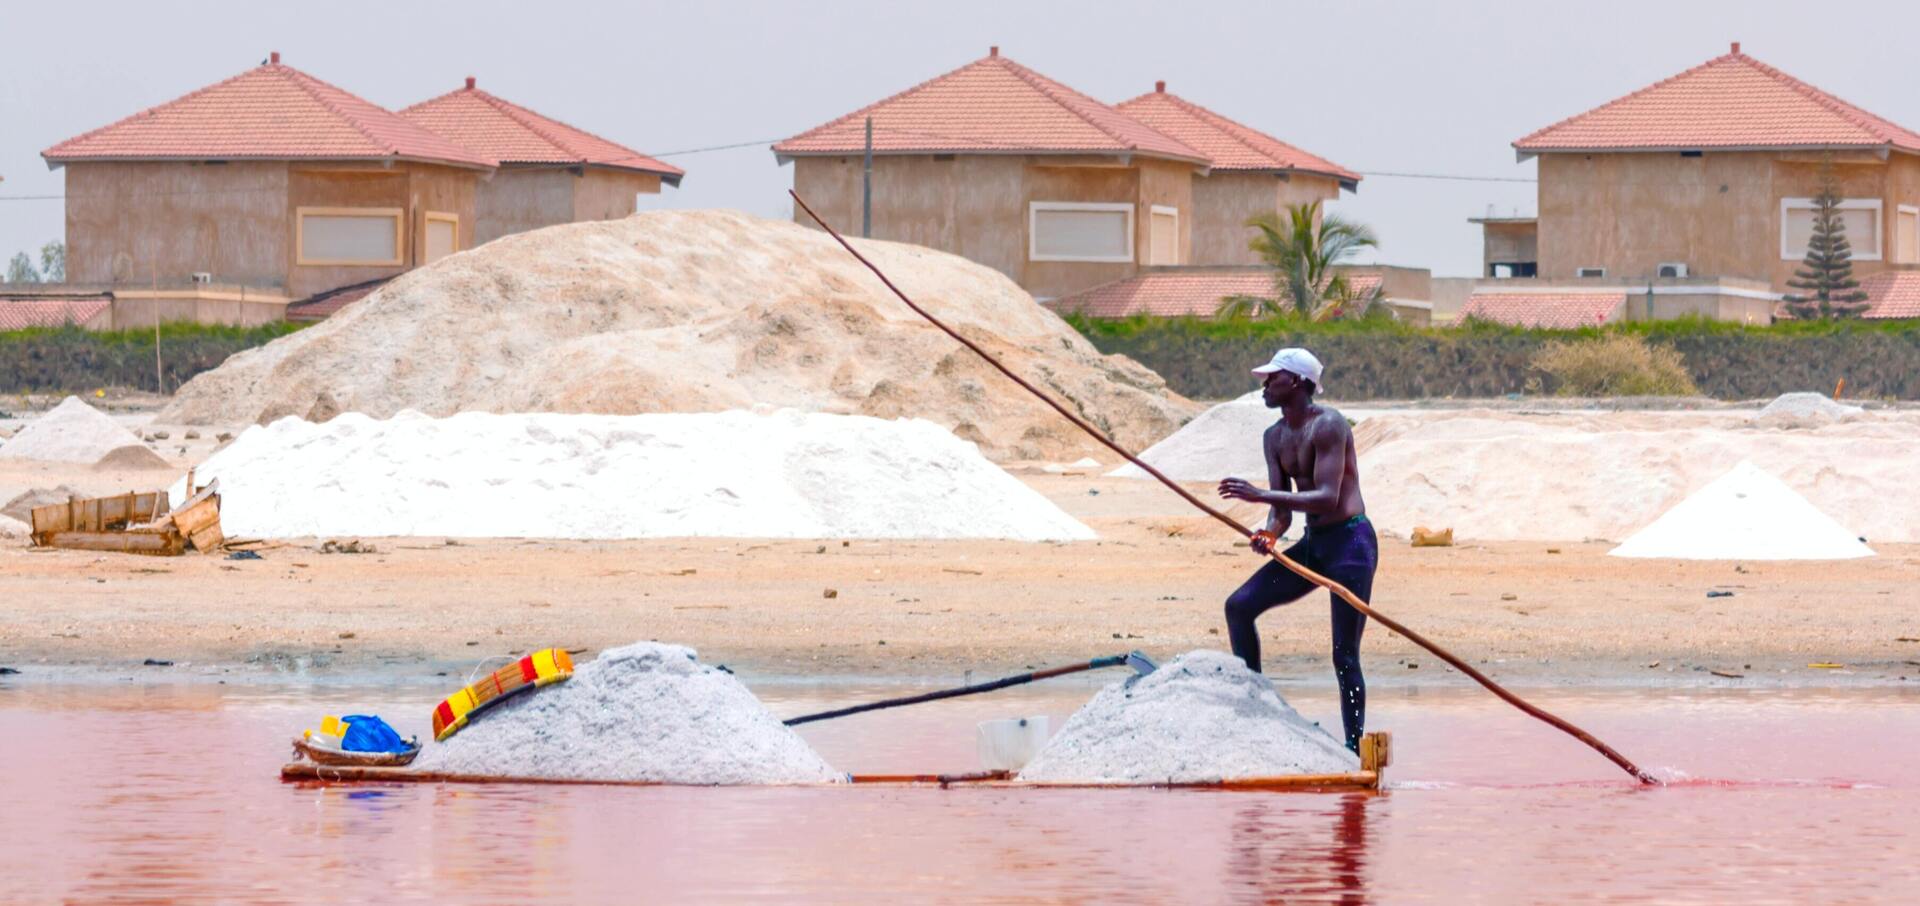
<svg viewBox="0 0 1920 906"><path fill-rule="evenodd" d="M1380 789L1380 777L1394 760L1392 733L1367 733L1359 739L1359 770L1352 774L1288 774L1277 777L1236 777L1196 783L1039 783L1012 779L1008 772L975 774L852 774L854 785L879 787L991 787L991 789L1217 789L1269 793L1354 793ZM359 768L313 762L290 762L280 768L280 779L292 783L570 783L593 787L664 787L659 781L630 779L555 779L555 777L492 777L484 774L417 772L409 768ZM776 783L770 783L776 785ZM795 787L845 787L845 783L780 783Z"/></svg>

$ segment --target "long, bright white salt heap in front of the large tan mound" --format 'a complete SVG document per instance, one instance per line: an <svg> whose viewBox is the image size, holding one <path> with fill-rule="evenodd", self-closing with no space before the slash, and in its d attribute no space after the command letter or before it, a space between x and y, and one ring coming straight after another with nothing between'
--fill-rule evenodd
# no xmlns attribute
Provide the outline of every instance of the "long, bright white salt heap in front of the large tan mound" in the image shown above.
<svg viewBox="0 0 1920 906"><path fill-rule="evenodd" d="M282 418L213 478L244 537L1094 537L933 422L791 409Z"/></svg>

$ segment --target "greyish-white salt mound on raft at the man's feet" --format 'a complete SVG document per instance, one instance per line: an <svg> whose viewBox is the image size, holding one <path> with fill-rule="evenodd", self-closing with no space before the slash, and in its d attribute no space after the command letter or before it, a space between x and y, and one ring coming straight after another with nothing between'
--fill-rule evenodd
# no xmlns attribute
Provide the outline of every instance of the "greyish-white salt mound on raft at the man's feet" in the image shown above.
<svg viewBox="0 0 1920 906"><path fill-rule="evenodd" d="M1354 770L1359 758L1290 708L1265 676L1233 655L1190 651L1100 689L1020 779L1202 783Z"/></svg>

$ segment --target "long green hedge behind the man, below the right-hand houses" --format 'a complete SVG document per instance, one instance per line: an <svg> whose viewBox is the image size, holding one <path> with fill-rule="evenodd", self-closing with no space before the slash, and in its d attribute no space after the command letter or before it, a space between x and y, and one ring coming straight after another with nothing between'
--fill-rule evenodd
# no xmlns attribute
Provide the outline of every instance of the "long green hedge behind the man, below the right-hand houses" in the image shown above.
<svg viewBox="0 0 1920 906"><path fill-rule="evenodd" d="M1283 346L1306 346L1327 363L1336 399L1496 397L1551 393L1532 369L1549 340L1638 334L1686 359L1701 393L1763 399L1795 390L1849 397L1920 399L1920 321L1780 322L1751 328L1720 321L1649 321L1582 330L1524 330L1484 322L1413 328L1400 322L1068 319L1100 351L1125 353L1190 397L1254 390L1246 369Z"/></svg>

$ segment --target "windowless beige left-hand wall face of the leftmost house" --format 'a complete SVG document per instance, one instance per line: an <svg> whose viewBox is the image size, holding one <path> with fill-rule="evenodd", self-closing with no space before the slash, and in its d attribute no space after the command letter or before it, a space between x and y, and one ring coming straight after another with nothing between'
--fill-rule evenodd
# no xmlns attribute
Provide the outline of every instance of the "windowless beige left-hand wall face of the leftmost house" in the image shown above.
<svg viewBox="0 0 1920 906"><path fill-rule="evenodd" d="M67 280L284 286L284 161L69 163Z"/></svg>

